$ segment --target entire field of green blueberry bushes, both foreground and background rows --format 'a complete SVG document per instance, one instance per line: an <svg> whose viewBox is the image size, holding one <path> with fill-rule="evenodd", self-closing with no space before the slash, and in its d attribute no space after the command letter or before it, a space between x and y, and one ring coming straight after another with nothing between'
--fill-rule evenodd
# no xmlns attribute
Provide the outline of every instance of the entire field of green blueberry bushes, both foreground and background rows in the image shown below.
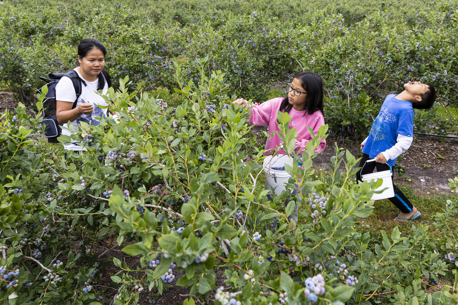
<svg viewBox="0 0 458 305"><path fill-rule="evenodd" d="M338 147L326 174L312 167L322 138L365 136L384 94L411 79L440 94L417 131L456 128L458 5L403 2L0 2L1 86L21 100L0 120L1 304L137 304L172 282L189 288L185 305L457 304L456 196L430 225L374 242L357 224L381 182L355 185L358 161ZM65 160L42 138L34 89L74 67L86 37L109 50L104 98L119 120L74 126L85 152ZM231 101L262 102L303 69L326 83L328 125L267 196L264 151ZM278 120L290 154L296 130ZM125 260L109 252L119 245Z"/></svg>

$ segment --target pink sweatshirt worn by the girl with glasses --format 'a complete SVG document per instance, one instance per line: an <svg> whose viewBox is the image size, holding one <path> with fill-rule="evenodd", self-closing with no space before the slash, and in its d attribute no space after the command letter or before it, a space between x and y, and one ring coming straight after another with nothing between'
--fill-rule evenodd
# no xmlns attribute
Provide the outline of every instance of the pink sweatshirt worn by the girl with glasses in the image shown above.
<svg viewBox="0 0 458 305"><path fill-rule="evenodd" d="M280 104L284 98L273 98L264 102L260 105L255 106L251 109L252 116L250 117L251 125L269 125L269 135L273 131L280 132L277 126L277 112L280 109ZM306 126L311 127L315 135L318 133L320 126L324 125L324 117L320 110L309 115L305 114L304 111L297 111L294 108L291 109L289 115L293 115L291 122L289 123L289 129L296 128L297 138L296 138L296 149L294 152L300 150L300 154L305 150L305 144L311 139L310 133L307 130ZM269 155L271 151L275 150L277 147L280 147L283 144L280 137L275 133L273 137L269 136L266 141L266 152L265 156ZM320 145L315 149L315 152L319 152L326 147L326 140L322 140ZM280 149L279 154L286 154L283 149Z"/></svg>

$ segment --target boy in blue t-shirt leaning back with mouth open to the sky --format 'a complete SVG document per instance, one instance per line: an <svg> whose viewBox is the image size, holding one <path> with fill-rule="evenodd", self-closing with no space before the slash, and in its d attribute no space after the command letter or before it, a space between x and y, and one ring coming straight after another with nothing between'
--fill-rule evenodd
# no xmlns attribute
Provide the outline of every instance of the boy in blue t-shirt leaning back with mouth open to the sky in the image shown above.
<svg viewBox="0 0 458 305"><path fill-rule="evenodd" d="M389 170L396 163L398 156L412 144L413 108L429 109L436 99L436 91L428 83L408 82L404 84L404 89L398 95L390 94L385 98L369 136L361 143L363 158L360 167L365 166L356 174L358 181L362 181L361 175L372 173L375 167L380 172ZM365 163L374 158L376 162ZM394 220L404 222L420 217L421 213L394 183L393 188L394 197L389 200L401 211Z"/></svg>

